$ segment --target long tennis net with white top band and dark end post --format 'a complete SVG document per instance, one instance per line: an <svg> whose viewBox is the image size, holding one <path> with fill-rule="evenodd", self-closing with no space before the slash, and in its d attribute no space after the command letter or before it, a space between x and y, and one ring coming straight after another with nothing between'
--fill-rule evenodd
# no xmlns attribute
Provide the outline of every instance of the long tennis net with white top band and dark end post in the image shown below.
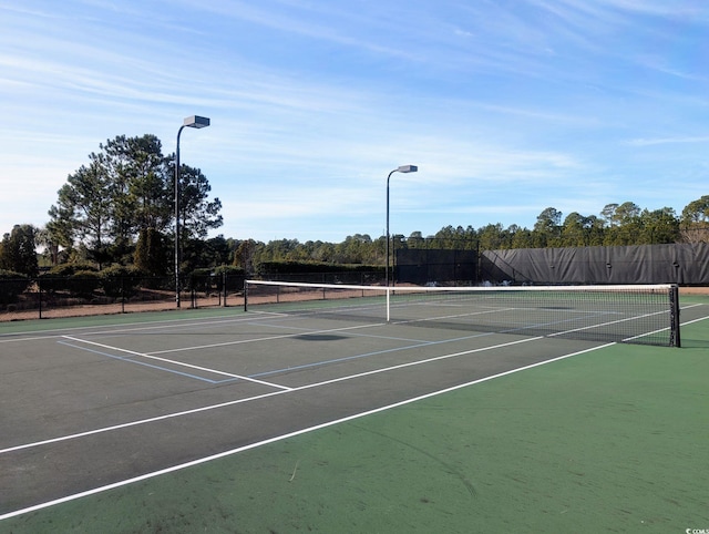
<svg viewBox="0 0 709 534"><path fill-rule="evenodd" d="M246 280L245 309L483 332L680 346L675 285L420 287Z"/></svg>

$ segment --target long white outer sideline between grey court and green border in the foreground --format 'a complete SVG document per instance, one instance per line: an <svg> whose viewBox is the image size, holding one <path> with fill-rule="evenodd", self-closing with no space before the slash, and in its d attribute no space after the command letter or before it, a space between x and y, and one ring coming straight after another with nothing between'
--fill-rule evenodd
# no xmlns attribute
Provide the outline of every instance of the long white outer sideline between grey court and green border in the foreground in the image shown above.
<svg viewBox="0 0 709 534"><path fill-rule="evenodd" d="M534 339L541 339L541 338L534 338ZM504 343L504 345L511 345L511 343ZM540 361L537 363L532 363L530 366L521 367L521 368L517 368L517 369L512 369L510 371L504 371L504 372L501 372L501 373L497 373L497 374L493 374L493 376L490 376L490 377L484 377L484 378L481 378L481 379L477 379L477 380L473 380L473 381L470 381L470 382L465 382L465 383L461 383L461 384L458 384L458 386L453 386L451 388L442 389L440 391L433 391L431 393L427 393L427 394L423 394L423 396L413 397L411 399L399 401L399 402L395 402L393 404L389 404L389 405L386 405L386 407L376 408L373 410L369 410L369 411L361 412L361 413L356 413L353 415L349 415L349 417L346 417L346 418L337 419L335 421L328 421L326 423L317 424L315 427L310 427L310 428L302 429L302 430L297 430L297 431L290 432L288 434L277 435L277 437L270 438L268 440L259 441L257 443L250 443L248 445L239 446L237 449L232 449L229 451L224 451L224 452L220 452L218 454L213 454L210 456L205 456L205 458L201 458L201 459L197 459L197 460L193 460L191 462L182 463L182 464L178 464L178 465L173 465L171 468L166 468L166 469L163 469L163 470L160 470L160 471L154 471L152 473L145 473L145 474L142 474L140 476L135 476L133 479L127 479L127 480L124 480L124 481L115 482L113 484L107 484L107 485L104 485L104 486L94 487L93 490L88 490L85 492L75 493L73 495L68 495L65 497L56 499L54 501L49 501L47 503L37 504L34 506L29 506L27 509L17 510L14 512L9 512L7 514L0 515L0 521L7 520L7 518L10 518L10 517L16 517L18 515L27 514L27 513L30 513L30 512L37 512L38 510L47 509L47 507L54 506L56 504L66 503L66 502L70 502L70 501L75 501L78 499L82 499L82 497L85 497L85 496L89 496L89 495L94 495L96 493L102 493L102 492L105 492L105 491L109 491L109 490L114 490L116 487L122 487L122 486L125 486L125 485L129 485L129 484L133 484L135 482L141 482L141 481L144 481L144 480L154 479L154 477L161 476L163 474L173 473L175 471L181 471L183 469L192 468L192 466L199 465L199 464L203 464L203 463L206 463L206 462L210 462L210 461L218 460L218 459L222 459L222 458L230 456L233 454L238 454L240 452L248 451L249 449L256 449L258 446L267 445L269 443L275 443L275 442L278 442L278 441L287 440L287 439L290 439L290 438L295 438L297 435L306 434L308 432L314 432L316 430L321 430L321 429L326 429L328 427L333 427L336 424L341 424L341 423L345 423L345 422L348 422L348 421L353 421L356 419L360 419L360 418L363 418L363 417L367 417L367 415L372 415L374 413L379 413L379 412L383 412L383 411L391 410L391 409L394 409L394 408L399 408L399 407L402 407L402 405L405 405L405 404L410 404L412 402L418 402L418 401L421 401L421 400L424 400L424 399L430 399L432 397L438 397L440 394L449 393L449 392L452 392L452 391L455 391L455 390L459 390L459 389L462 389L462 388L467 388L470 386L475 386L475 384L479 384L479 383L482 383L482 382L487 382L490 380L494 380L494 379L497 379L497 378L506 377L508 374L513 374L513 373L516 373L516 372L520 372L520 371L525 371L525 370L528 370L528 369L533 369L535 367L540 367L540 366L544 366L544 364L547 364L547 363L552 363L554 361L559 361L559 360L564 360L566 358L572 358L574 356L583 355L583 353L586 353L586 352L592 352L594 350L598 350L598 349L603 349L603 348L606 348L606 347L610 347L613 345L616 345L616 343L602 345L602 346L598 346L598 347L592 347L589 349L580 350L580 351L577 351L577 352L572 352L569 355L563 355L563 356L553 358L551 360ZM274 392L274 393L270 393L270 394L280 394L280 393L281 392ZM0 451L0 453L2 451Z"/></svg>

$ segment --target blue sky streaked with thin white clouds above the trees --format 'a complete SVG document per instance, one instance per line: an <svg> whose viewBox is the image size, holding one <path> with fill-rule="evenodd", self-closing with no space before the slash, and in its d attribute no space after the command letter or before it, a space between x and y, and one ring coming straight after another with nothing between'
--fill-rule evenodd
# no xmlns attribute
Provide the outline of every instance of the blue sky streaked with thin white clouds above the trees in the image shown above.
<svg viewBox="0 0 709 534"><path fill-rule="evenodd" d="M116 135L157 135L215 234L532 227L709 194L706 0L0 0L0 235Z"/></svg>

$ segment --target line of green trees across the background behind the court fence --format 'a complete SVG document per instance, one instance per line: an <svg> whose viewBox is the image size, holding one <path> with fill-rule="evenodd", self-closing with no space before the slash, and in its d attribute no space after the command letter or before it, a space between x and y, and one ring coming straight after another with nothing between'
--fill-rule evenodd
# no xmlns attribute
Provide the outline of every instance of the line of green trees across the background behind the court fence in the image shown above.
<svg viewBox="0 0 709 534"><path fill-rule="evenodd" d="M89 163L69 175L42 228L16 225L0 242L0 269L35 276L40 267L90 264L131 266L148 276L172 273L175 157L154 135L117 136L100 144ZM386 261L386 237L364 234L342 243L278 239L269 243L217 236L222 203L198 168L181 165L182 270L235 266L247 273L267 261L364 264ZM649 210L635 203L607 204L598 215L547 207L532 228L489 224L392 237L393 248L505 249L709 242L709 195L674 208ZM42 254L38 256L38 248Z"/></svg>

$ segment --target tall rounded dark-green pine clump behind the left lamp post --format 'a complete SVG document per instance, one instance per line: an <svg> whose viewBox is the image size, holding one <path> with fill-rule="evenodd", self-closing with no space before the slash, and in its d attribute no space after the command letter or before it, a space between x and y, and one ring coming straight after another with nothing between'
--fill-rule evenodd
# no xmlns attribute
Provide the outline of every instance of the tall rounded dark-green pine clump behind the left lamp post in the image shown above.
<svg viewBox="0 0 709 534"><path fill-rule="evenodd" d="M59 245L85 247L100 263L130 261L141 232L157 232L163 240L168 237L174 220L174 156L163 156L160 140L150 134L119 135L100 148L59 191L47 228ZM182 166L181 177L179 237L189 257L193 240L222 225L222 203L208 199L210 186L199 170ZM174 233L169 240L174 242ZM154 236L151 243L156 243Z"/></svg>

